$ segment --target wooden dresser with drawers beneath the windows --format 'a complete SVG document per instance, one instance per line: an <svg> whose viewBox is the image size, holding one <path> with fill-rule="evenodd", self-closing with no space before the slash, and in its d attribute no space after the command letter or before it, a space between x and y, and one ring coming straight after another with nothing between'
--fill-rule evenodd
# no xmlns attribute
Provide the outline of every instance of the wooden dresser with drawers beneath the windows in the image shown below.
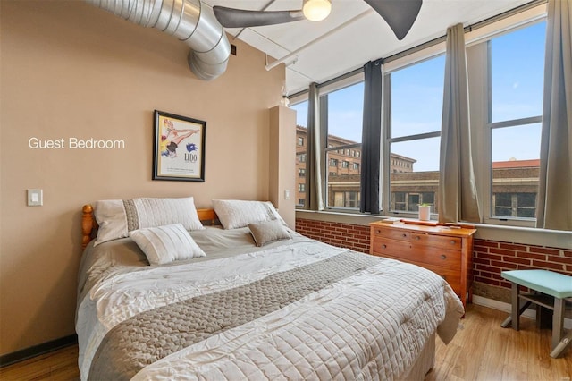
<svg viewBox="0 0 572 381"><path fill-rule="evenodd" d="M370 224L370 254L399 259L441 275L467 305L473 284L475 229L415 222Z"/></svg>

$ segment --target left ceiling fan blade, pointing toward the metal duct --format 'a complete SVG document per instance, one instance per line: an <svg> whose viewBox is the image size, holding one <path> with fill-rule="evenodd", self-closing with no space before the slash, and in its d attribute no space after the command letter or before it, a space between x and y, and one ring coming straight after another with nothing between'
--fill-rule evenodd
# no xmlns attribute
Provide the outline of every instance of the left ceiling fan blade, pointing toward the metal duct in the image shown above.
<svg viewBox="0 0 572 381"><path fill-rule="evenodd" d="M225 28L262 27L284 22L304 20L299 11L247 11L214 5L214 16Z"/></svg>

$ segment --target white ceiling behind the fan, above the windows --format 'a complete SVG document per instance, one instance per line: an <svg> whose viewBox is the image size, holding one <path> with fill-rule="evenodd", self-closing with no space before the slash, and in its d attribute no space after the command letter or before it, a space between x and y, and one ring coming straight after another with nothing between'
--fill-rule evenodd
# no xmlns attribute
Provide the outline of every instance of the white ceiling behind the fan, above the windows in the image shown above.
<svg viewBox="0 0 572 381"><path fill-rule="evenodd" d="M408 0L402 0L408 1ZM207 5L269 11L300 9L302 0L203 0ZM231 36L286 60L286 90L294 94L309 83L322 83L363 66L445 35L449 26L465 26L526 4L530 0L424 0L408 35L399 41L382 17L361 0L332 0L324 21L295 21L257 28L227 29ZM232 40L232 38L231 38ZM278 69L275 69L278 70Z"/></svg>

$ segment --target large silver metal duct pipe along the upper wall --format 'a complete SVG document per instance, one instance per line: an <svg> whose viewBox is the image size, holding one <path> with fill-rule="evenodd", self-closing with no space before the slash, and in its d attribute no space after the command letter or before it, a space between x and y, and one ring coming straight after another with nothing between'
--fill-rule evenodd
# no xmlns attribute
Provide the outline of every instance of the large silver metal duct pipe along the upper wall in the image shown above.
<svg viewBox="0 0 572 381"><path fill-rule="evenodd" d="M231 44L213 10L200 0L85 0L144 27L162 30L190 48L189 67L201 80L226 70Z"/></svg>

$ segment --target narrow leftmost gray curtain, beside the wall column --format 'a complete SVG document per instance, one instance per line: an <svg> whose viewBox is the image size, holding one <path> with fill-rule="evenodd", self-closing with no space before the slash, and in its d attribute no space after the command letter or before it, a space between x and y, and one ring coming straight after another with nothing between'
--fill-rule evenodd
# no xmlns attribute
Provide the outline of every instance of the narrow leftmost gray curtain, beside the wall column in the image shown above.
<svg viewBox="0 0 572 381"><path fill-rule="evenodd" d="M306 208L323 210L318 88L310 84L307 98Z"/></svg>

